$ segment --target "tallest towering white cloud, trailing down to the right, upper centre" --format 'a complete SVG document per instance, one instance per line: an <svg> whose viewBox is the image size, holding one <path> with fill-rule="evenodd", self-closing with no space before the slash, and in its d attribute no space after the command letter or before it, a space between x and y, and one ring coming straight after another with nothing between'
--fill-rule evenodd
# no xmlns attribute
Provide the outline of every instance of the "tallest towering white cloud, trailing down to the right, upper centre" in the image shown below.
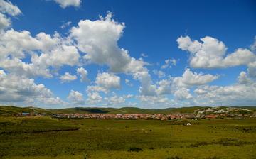
<svg viewBox="0 0 256 159"><path fill-rule="evenodd" d="M109 72L136 72L147 70L149 65L142 58L135 60L130 57L128 50L118 48L117 40L121 38L124 23L112 19L112 13L97 21L80 21L78 27L70 29L70 37L77 42L78 49L85 53L87 64L108 65Z"/></svg>

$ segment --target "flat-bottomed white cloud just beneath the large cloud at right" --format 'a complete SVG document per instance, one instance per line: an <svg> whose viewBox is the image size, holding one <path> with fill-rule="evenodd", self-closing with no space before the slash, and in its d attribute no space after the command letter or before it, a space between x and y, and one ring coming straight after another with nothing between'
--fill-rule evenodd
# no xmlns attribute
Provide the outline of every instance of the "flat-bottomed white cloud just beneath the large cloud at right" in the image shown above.
<svg viewBox="0 0 256 159"><path fill-rule="evenodd" d="M208 84L218 79L219 75L203 75L203 72L197 74L196 72L191 72L191 70L186 69L182 77L175 77L173 83L178 87L196 87L199 85Z"/></svg>

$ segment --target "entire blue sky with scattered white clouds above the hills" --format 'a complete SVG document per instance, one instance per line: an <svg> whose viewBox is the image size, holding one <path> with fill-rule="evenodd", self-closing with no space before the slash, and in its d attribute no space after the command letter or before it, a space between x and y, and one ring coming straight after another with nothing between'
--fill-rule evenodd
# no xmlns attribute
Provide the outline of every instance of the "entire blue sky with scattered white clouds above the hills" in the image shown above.
<svg viewBox="0 0 256 159"><path fill-rule="evenodd" d="M255 1L0 0L0 104L255 106Z"/></svg>

